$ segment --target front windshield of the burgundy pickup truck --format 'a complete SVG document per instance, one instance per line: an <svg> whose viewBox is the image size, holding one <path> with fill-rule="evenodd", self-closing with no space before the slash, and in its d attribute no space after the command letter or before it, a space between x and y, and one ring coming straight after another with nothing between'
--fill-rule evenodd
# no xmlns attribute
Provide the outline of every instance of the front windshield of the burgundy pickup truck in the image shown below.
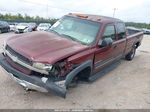
<svg viewBox="0 0 150 112"><path fill-rule="evenodd" d="M49 31L82 44L90 45L95 41L100 26L101 23L99 22L64 16Z"/></svg>

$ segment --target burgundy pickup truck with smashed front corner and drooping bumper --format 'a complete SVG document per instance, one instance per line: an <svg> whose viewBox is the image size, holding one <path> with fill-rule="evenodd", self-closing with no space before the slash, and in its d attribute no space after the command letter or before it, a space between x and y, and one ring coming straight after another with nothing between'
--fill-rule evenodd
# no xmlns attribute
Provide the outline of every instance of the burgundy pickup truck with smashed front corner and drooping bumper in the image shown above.
<svg viewBox="0 0 150 112"><path fill-rule="evenodd" d="M70 13L48 32L9 38L0 64L26 90L66 97L77 82L94 81L122 58L132 60L142 38L142 32L127 30L119 19Z"/></svg>

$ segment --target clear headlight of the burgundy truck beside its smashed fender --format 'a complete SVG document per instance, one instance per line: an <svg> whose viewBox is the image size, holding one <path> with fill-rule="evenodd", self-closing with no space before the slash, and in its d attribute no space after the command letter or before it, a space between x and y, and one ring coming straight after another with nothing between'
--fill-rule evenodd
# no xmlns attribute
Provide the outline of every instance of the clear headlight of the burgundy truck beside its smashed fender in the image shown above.
<svg viewBox="0 0 150 112"><path fill-rule="evenodd" d="M48 71L50 71L53 66L51 64L33 63L33 67L41 69L41 70L48 70Z"/></svg>

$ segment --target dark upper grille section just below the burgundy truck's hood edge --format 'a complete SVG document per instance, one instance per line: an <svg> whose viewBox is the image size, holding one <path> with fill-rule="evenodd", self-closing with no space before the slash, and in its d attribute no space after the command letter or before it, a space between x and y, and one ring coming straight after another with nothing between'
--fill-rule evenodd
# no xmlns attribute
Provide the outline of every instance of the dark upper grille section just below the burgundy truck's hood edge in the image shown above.
<svg viewBox="0 0 150 112"><path fill-rule="evenodd" d="M23 61L26 64L32 65L32 61L28 58L22 56L21 54L14 51L12 48L10 48L8 45L6 46L6 50L13 56L16 56L20 61Z"/></svg>

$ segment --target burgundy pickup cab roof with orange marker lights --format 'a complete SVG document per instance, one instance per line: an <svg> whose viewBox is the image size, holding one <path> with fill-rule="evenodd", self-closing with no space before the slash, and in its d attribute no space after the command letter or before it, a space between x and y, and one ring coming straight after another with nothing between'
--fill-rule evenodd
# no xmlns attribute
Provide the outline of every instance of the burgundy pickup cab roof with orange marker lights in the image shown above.
<svg viewBox="0 0 150 112"><path fill-rule="evenodd" d="M78 17L78 18L83 18L83 19L96 21L96 22L103 22L103 23L123 22L122 20L117 19L117 18L106 17L106 16L101 16L101 15L92 15L92 14L69 13L67 16Z"/></svg>

